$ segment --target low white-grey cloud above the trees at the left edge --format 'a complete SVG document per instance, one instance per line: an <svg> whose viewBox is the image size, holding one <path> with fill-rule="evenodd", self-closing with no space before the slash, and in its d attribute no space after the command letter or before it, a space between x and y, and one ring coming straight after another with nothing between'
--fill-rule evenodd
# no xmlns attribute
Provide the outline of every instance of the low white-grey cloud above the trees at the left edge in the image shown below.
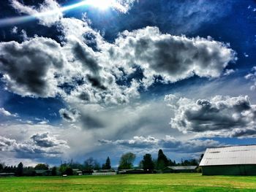
<svg viewBox="0 0 256 192"><path fill-rule="evenodd" d="M30 140L23 142L0 136L0 151L16 153L20 158L26 158L27 155L33 157L31 154L34 154L34 158L59 156L67 148L66 141L50 137L48 133L34 134Z"/></svg>

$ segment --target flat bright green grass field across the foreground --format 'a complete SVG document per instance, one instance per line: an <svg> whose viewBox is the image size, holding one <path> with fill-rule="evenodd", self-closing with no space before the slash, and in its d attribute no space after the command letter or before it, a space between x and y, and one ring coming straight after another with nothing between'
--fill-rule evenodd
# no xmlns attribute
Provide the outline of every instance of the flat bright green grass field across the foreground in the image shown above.
<svg viewBox="0 0 256 192"><path fill-rule="evenodd" d="M0 191L256 191L256 177L201 174L1 177Z"/></svg>

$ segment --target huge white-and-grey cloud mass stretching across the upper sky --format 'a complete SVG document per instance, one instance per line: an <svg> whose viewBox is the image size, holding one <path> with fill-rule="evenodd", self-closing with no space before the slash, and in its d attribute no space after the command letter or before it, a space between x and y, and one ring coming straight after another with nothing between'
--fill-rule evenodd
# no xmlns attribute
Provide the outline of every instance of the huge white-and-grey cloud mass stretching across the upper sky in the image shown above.
<svg viewBox="0 0 256 192"><path fill-rule="evenodd" d="M8 91L58 95L71 105L127 104L156 81L219 77L236 61L236 53L225 43L162 34L157 27L124 31L113 43L88 20L61 18L58 28L61 44L45 37L0 43L0 72Z"/></svg>

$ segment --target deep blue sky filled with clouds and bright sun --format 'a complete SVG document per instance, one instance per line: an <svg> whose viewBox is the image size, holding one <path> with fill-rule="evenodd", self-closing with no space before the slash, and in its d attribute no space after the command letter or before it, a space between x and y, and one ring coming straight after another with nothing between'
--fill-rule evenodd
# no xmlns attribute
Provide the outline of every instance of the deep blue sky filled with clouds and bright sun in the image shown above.
<svg viewBox="0 0 256 192"><path fill-rule="evenodd" d="M252 0L2 0L0 162L254 145L255 50Z"/></svg>

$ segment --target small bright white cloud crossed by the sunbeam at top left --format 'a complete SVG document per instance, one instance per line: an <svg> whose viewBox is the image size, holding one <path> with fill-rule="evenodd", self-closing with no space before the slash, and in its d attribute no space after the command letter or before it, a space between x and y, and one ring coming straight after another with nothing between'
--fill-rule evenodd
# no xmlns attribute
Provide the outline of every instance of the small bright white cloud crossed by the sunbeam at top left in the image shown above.
<svg viewBox="0 0 256 192"><path fill-rule="evenodd" d="M10 2L12 7L18 12L34 15L34 17L39 19L39 24L43 26L53 26L53 24L63 17L60 6L55 0L45 0L42 4L39 4L39 7L26 6L17 0L10 0ZM50 13L53 10L54 13ZM48 12L48 14L40 15L42 12Z"/></svg>

